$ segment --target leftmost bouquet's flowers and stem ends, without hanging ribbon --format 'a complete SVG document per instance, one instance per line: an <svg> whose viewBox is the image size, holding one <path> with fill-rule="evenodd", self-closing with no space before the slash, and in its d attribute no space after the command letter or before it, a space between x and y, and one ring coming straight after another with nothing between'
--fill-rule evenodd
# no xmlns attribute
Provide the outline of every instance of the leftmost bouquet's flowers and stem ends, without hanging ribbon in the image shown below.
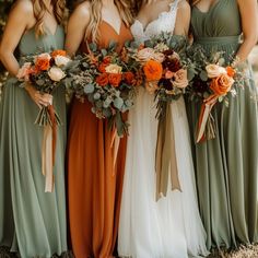
<svg viewBox="0 0 258 258"><path fill-rule="evenodd" d="M52 92L61 84L67 75L68 63L71 59L64 50L54 50L43 52L37 56L23 57L24 64L17 72L20 86L32 84L40 93L52 94ZM35 120L36 125L52 125L54 119L59 125L60 118L55 112L52 103L47 107L42 107Z"/></svg>

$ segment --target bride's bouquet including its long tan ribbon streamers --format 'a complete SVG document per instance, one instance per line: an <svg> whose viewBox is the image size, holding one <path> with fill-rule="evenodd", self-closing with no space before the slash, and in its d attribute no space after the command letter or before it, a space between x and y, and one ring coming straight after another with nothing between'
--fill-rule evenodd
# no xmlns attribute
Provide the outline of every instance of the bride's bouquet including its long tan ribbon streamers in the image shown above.
<svg viewBox="0 0 258 258"><path fill-rule="evenodd" d="M166 196L169 178L172 188L180 190L171 103L186 92L192 79L187 47L186 37L171 33L162 33L143 44L132 43L129 47L131 56L141 63L144 87L156 101L156 199Z"/></svg>

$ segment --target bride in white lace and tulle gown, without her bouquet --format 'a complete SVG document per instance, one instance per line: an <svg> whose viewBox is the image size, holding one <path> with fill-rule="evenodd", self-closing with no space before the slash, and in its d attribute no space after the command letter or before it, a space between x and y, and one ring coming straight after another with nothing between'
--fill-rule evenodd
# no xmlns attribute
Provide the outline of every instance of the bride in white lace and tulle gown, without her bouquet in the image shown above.
<svg viewBox="0 0 258 258"><path fill-rule="evenodd" d="M151 19L162 8L164 10L159 11L160 15ZM143 1L131 32L140 42L161 32L186 34L189 16L189 5L185 0L148 0L146 3ZM206 232L198 210L184 98L173 102L171 109L181 191L172 191L169 188L166 197L159 201L155 175L157 120L154 96L141 87L136 105L129 114L118 235L120 257L186 258L208 255Z"/></svg>

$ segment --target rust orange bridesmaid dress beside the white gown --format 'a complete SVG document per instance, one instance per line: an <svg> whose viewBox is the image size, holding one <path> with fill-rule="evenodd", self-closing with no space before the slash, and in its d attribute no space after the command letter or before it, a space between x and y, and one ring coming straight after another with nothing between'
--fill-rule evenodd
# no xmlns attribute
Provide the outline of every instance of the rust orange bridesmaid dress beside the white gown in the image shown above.
<svg viewBox="0 0 258 258"><path fill-rule="evenodd" d="M131 33L122 23L119 34L106 22L99 24L99 47L110 40L124 43ZM86 51L82 44L82 51ZM68 191L71 242L77 258L108 258L117 238L122 192L126 144L120 141L113 165L112 132L107 120L98 119L85 99L73 101L68 145Z"/></svg>

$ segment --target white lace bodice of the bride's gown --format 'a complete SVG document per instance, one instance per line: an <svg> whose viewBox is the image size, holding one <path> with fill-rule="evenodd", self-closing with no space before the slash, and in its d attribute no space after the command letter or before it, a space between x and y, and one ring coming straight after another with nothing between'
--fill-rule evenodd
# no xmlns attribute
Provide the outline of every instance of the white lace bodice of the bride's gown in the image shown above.
<svg viewBox="0 0 258 258"><path fill-rule="evenodd" d="M139 20L131 25L131 33L136 40L143 42L161 32L174 32L177 14L177 5L180 0L175 0L169 4L169 11L160 13L159 17L150 22L144 28Z"/></svg>

